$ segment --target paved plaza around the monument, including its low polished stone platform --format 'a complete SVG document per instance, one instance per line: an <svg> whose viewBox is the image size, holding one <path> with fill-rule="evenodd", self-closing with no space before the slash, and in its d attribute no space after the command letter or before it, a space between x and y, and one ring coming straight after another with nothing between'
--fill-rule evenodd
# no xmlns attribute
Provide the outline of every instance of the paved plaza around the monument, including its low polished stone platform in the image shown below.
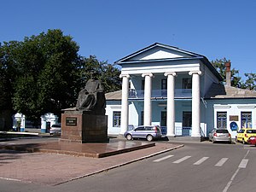
<svg viewBox="0 0 256 192"><path fill-rule="evenodd" d="M81 145L84 147L82 148ZM55 148L50 149L50 146ZM109 143L74 144L70 145L70 148L67 144L60 146L56 141L42 143L38 139L1 141L0 177L27 183L57 185L125 166L180 147L183 147L183 144L148 143L116 138L111 138ZM32 151L28 153L26 149L29 148L43 150L36 149L33 153ZM101 154L103 154L102 158L100 158Z"/></svg>

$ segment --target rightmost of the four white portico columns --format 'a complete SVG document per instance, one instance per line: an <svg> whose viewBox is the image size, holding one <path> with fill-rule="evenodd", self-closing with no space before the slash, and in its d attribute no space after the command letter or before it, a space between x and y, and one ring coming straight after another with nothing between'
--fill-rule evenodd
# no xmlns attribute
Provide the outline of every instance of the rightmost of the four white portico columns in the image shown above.
<svg viewBox="0 0 256 192"><path fill-rule="evenodd" d="M191 137L201 137L200 75L201 71L189 72L192 75L192 132Z"/></svg>

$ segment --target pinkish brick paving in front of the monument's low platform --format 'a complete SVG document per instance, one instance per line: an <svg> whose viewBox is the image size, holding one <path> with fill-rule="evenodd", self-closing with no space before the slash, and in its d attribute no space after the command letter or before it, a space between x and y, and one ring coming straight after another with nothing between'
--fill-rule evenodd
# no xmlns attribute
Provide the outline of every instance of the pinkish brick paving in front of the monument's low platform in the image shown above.
<svg viewBox="0 0 256 192"><path fill-rule="evenodd" d="M116 142L119 142L117 139ZM33 142L33 139L30 143ZM137 141L121 140L122 145L129 146ZM0 143L3 146L3 142ZM15 143L11 143L15 145ZM113 145L113 146L114 146ZM109 147L109 146L108 146ZM26 153L14 150L0 150L0 178L13 179L28 183L57 185L67 183L80 177L87 177L132 162L143 160L156 154L181 148L183 144L159 142L150 143L148 148L114 154L104 158L91 158L77 155L55 153ZM111 144L110 144L111 148Z"/></svg>

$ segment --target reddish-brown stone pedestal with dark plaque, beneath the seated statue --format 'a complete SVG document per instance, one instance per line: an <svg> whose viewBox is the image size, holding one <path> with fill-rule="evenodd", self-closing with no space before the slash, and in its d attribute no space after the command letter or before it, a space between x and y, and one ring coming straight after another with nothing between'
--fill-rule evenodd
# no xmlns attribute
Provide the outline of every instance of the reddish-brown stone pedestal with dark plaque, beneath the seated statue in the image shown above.
<svg viewBox="0 0 256 192"><path fill-rule="evenodd" d="M61 114L60 142L107 143L108 116L70 110Z"/></svg>

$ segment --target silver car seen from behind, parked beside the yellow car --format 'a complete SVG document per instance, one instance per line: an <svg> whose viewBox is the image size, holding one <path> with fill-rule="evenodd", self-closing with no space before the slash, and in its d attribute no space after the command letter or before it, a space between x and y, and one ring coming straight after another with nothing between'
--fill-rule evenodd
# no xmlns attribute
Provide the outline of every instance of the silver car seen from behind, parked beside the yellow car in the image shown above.
<svg viewBox="0 0 256 192"><path fill-rule="evenodd" d="M212 141L212 143L216 142L227 142L231 143L231 135L230 132L226 129L213 129L209 133L209 141Z"/></svg>

